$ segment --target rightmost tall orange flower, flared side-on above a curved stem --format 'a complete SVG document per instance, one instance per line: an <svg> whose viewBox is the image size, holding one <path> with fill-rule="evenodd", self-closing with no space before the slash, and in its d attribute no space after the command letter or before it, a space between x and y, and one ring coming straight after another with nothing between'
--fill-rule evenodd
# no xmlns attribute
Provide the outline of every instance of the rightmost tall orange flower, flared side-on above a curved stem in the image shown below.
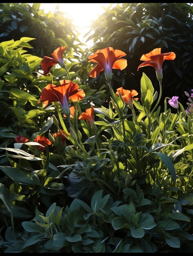
<svg viewBox="0 0 193 256"><path fill-rule="evenodd" d="M140 61L144 61L139 65L137 71L140 67L152 66L155 67L157 79L162 81L162 64L165 60L173 61L175 59L174 52L167 52L161 54L161 48L156 48L153 51L143 54L140 58Z"/></svg>

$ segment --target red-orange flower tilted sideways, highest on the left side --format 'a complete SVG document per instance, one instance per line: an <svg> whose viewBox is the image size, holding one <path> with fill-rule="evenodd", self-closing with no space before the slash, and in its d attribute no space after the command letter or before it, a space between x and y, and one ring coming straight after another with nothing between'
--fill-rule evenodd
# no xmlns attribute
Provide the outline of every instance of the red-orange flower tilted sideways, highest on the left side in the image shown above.
<svg viewBox="0 0 193 256"><path fill-rule="evenodd" d="M65 49L66 49L65 46L60 46L51 54L53 58L50 58L47 56L43 57L43 60L41 61L40 66L45 76L49 74L49 71L54 65L60 64L61 67L65 65L63 61L63 52L65 51Z"/></svg>

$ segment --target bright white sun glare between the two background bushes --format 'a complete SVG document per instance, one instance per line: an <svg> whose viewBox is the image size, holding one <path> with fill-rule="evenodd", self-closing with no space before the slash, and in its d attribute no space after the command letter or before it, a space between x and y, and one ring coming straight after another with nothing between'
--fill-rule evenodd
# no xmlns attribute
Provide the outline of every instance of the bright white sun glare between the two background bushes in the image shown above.
<svg viewBox="0 0 193 256"><path fill-rule="evenodd" d="M92 20L96 20L99 15L105 12L103 7L109 7L110 3L41 3L40 8L44 9L47 13L49 11L54 11L56 6L59 5L59 11L64 12L67 17L72 19L74 26L79 31L79 40L85 43L86 37L84 35L90 30L90 25ZM113 3L112 7L117 5ZM85 43L92 45L92 40Z"/></svg>

